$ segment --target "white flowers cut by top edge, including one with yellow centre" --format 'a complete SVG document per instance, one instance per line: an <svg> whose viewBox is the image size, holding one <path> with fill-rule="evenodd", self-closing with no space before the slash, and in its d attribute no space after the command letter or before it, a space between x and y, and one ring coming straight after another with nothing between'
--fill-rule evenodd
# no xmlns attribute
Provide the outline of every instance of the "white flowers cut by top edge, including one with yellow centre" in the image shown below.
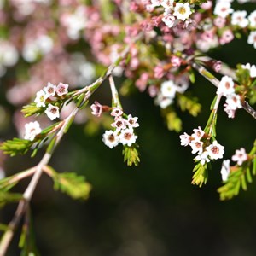
<svg viewBox="0 0 256 256"><path fill-rule="evenodd" d="M173 0L151 0L151 4L146 6L147 9L152 10L155 7L163 7L165 9L162 21L168 27L177 25L179 20L188 20L189 15L192 14L189 3L176 3L173 5Z"/></svg>

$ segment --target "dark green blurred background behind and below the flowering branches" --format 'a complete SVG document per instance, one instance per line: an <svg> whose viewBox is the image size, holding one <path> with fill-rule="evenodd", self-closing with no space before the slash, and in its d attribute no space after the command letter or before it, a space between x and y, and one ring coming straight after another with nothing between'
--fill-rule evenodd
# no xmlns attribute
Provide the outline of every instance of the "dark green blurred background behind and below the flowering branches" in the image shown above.
<svg viewBox="0 0 256 256"><path fill-rule="evenodd" d="M246 40L235 39L211 54L231 67L236 67L237 62L255 64L255 49L248 47ZM10 100L15 98L10 90L15 88L15 76L22 73L22 68L11 67L0 78L2 141L17 137L18 128L27 122L20 117L20 103ZM121 84L122 80L117 81ZM199 76L190 90L199 97L202 111L196 119L181 113L183 131L188 133L198 125L206 125L215 95L212 84ZM20 91L12 93L18 96ZM93 100L102 104L111 102L104 86ZM47 256L255 255L255 183L249 184L248 191L235 199L219 201L221 161L216 161L207 185L201 189L192 185L193 155L189 148L180 146L179 134L167 130L160 108L152 98L135 92L130 97L121 97L121 101L126 113L139 118L137 142L141 164L125 166L122 148L107 148L102 143L103 130L94 131L88 123L84 124L86 113L81 115L83 121L72 126L50 165L59 172L84 175L92 185L90 198L73 201L55 192L49 177L41 178L31 205L32 229L39 253ZM254 120L242 109L237 111L236 119L228 119L220 109L217 128L218 142L225 146L225 159L237 148L244 147L247 151L252 148ZM9 176L37 164L43 154L44 150L33 159L29 155L1 156L1 168ZM20 183L15 191L24 191L28 181ZM1 209L1 223L9 222L15 207L11 204ZM9 247L9 256L20 255L19 236L20 228Z"/></svg>

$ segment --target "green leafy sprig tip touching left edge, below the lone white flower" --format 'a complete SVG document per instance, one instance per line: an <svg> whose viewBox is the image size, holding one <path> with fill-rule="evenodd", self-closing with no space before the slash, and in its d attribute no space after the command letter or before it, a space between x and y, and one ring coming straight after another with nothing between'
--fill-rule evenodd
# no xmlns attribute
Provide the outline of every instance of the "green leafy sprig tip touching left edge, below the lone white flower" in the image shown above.
<svg viewBox="0 0 256 256"><path fill-rule="evenodd" d="M4 154L10 154L10 156L26 154L27 150L32 147L33 143L34 142L32 141L15 137L13 140L1 143L0 150L3 150Z"/></svg>

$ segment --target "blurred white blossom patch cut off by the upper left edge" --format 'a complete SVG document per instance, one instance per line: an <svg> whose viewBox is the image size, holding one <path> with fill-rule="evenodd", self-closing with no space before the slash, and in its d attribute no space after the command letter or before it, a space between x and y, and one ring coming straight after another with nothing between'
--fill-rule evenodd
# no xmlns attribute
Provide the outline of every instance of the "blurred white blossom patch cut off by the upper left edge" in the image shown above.
<svg viewBox="0 0 256 256"><path fill-rule="evenodd" d="M19 58L15 46L7 41L0 40L0 78L6 73L6 67L13 67Z"/></svg>

